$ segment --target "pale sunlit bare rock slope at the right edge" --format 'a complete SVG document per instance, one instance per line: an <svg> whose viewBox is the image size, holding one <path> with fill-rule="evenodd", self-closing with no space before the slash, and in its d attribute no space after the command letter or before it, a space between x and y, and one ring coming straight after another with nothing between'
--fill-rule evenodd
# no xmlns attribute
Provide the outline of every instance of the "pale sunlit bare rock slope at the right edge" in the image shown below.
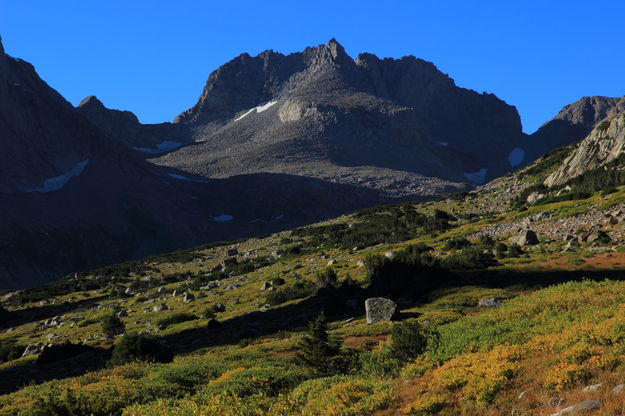
<svg viewBox="0 0 625 416"><path fill-rule="evenodd" d="M625 113L608 117L580 142L561 166L544 181L552 187L619 157L625 146Z"/></svg>

